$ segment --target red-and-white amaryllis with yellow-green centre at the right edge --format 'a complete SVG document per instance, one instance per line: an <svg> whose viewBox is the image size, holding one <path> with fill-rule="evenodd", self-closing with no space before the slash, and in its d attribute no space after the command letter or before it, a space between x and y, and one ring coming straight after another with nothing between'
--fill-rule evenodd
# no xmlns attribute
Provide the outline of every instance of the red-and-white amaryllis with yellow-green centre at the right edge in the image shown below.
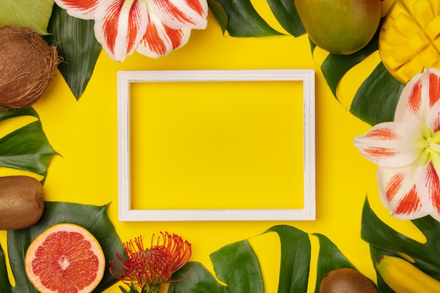
<svg viewBox="0 0 440 293"><path fill-rule="evenodd" d="M377 164L380 198L398 219L440 221L440 71L417 74L401 93L394 122L354 139Z"/></svg>

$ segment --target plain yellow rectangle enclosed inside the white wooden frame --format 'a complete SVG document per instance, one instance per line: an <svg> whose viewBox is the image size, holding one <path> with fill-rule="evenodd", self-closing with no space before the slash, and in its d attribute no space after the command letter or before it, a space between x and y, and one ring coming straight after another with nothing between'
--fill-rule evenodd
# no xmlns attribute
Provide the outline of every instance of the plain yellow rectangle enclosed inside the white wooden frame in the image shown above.
<svg viewBox="0 0 440 293"><path fill-rule="evenodd" d="M303 208L302 82L130 89L132 209Z"/></svg>

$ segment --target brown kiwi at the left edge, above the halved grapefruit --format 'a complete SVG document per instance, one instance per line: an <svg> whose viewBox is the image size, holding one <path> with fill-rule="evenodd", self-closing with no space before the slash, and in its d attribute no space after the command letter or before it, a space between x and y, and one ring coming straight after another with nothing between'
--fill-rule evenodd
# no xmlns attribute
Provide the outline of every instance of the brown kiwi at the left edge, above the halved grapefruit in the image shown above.
<svg viewBox="0 0 440 293"><path fill-rule="evenodd" d="M44 210L44 190L31 176L0 177L0 230L18 230L37 223Z"/></svg>

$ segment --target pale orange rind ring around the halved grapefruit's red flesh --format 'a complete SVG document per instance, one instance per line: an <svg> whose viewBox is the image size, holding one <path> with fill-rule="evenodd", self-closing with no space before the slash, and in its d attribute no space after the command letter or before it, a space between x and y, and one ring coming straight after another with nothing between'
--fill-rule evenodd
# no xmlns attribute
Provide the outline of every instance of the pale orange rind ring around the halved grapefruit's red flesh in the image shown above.
<svg viewBox="0 0 440 293"><path fill-rule="evenodd" d="M53 291L52 289L44 286L41 284L40 277L38 275L34 274L33 268L32 268L32 261L34 261L35 252L37 252L37 249L41 246L41 244L46 240L46 238L57 232L73 232L73 233L79 233L81 234L85 240L87 240L91 247L89 250L93 252L94 255L98 258L98 271L96 271L96 278L93 280L89 285L82 289L78 289L77 293L90 293L93 291L93 289L98 286L99 282L103 279L104 271L105 271L105 256L103 253L103 249L101 245L99 244L98 240L89 232L89 230L86 230L86 228L82 226L78 226L72 223L60 223L56 224L54 226L51 226L47 230L44 230L43 233L38 235L34 241L30 244L29 248L27 249L26 255L25 255L25 271L27 278L30 280L32 285L41 293L58 293L58 290ZM65 280L61 280L62 282L65 282Z"/></svg>

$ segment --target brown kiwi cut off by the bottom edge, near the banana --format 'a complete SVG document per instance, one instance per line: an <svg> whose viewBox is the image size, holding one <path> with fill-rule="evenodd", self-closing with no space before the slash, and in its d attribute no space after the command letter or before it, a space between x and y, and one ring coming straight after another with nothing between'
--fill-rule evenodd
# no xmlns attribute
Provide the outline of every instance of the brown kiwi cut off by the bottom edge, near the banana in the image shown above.
<svg viewBox="0 0 440 293"><path fill-rule="evenodd" d="M325 274L319 293L377 293L362 273L352 268L337 268Z"/></svg>

